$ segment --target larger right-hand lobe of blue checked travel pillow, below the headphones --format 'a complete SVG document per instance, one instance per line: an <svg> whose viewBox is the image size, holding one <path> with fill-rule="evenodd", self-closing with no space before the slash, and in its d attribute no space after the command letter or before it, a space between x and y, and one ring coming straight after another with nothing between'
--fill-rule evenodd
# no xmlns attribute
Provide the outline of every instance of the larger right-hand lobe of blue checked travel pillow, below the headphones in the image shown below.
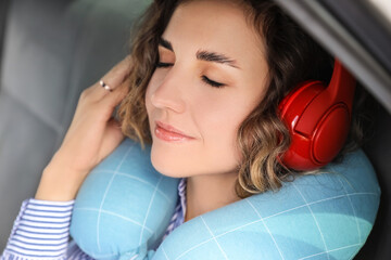
<svg viewBox="0 0 391 260"><path fill-rule="evenodd" d="M153 260L352 259L378 210L376 174L362 151L323 171L184 223Z"/></svg>

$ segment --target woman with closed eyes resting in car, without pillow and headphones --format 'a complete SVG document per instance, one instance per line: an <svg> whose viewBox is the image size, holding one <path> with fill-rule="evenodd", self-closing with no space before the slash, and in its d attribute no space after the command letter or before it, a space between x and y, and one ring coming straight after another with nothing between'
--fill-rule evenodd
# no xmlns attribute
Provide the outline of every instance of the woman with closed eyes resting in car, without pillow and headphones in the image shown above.
<svg viewBox="0 0 391 260"><path fill-rule="evenodd" d="M297 83L329 77L330 63L272 1L155 0L131 58L83 92L35 198L22 206L3 258L89 258L67 244L73 202L86 176L125 135L152 142L154 168L184 178L181 214L167 234L197 216L278 188L293 173L279 161L290 138L278 104ZM118 122L111 116L119 103ZM38 216L35 208L60 212L65 233L43 240L18 233L26 209ZM46 218L42 229L53 219Z"/></svg>

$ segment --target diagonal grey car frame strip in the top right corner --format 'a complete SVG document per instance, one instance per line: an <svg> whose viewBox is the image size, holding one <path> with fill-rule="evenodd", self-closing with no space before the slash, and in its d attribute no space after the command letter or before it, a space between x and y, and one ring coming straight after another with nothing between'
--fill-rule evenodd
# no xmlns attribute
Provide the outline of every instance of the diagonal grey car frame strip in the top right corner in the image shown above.
<svg viewBox="0 0 391 260"><path fill-rule="evenodd" d="M391 114L389 0L276 1L326 50L339 57Z"/></svg>

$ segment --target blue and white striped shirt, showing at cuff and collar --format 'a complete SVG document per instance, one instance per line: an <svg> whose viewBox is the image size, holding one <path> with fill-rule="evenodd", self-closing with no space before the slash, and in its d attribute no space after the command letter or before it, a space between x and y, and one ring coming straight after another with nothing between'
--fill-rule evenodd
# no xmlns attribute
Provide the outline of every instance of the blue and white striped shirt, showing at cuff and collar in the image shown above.
<svg viewBox="0 0 391 260"><path fill-rule="evenodd" d="M186 178L178 184L178 195L175 212L162 240L185 221ZM0 260L93 260L70 239L74 204L75 200L25 199Z"/></svg>

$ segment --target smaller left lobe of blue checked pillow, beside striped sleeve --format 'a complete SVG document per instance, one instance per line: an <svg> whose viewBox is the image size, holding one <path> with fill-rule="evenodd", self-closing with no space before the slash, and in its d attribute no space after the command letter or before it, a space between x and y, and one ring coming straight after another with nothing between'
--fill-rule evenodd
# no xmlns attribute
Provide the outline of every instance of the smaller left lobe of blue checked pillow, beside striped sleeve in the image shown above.
<svg viewBox="0 0 391 260"><path fill-rule="evenodd" d="M146 256L161 243L175 211L178 183L154 170L150 147L125 139L83 183L71 236L94 259Z"/></svg>

